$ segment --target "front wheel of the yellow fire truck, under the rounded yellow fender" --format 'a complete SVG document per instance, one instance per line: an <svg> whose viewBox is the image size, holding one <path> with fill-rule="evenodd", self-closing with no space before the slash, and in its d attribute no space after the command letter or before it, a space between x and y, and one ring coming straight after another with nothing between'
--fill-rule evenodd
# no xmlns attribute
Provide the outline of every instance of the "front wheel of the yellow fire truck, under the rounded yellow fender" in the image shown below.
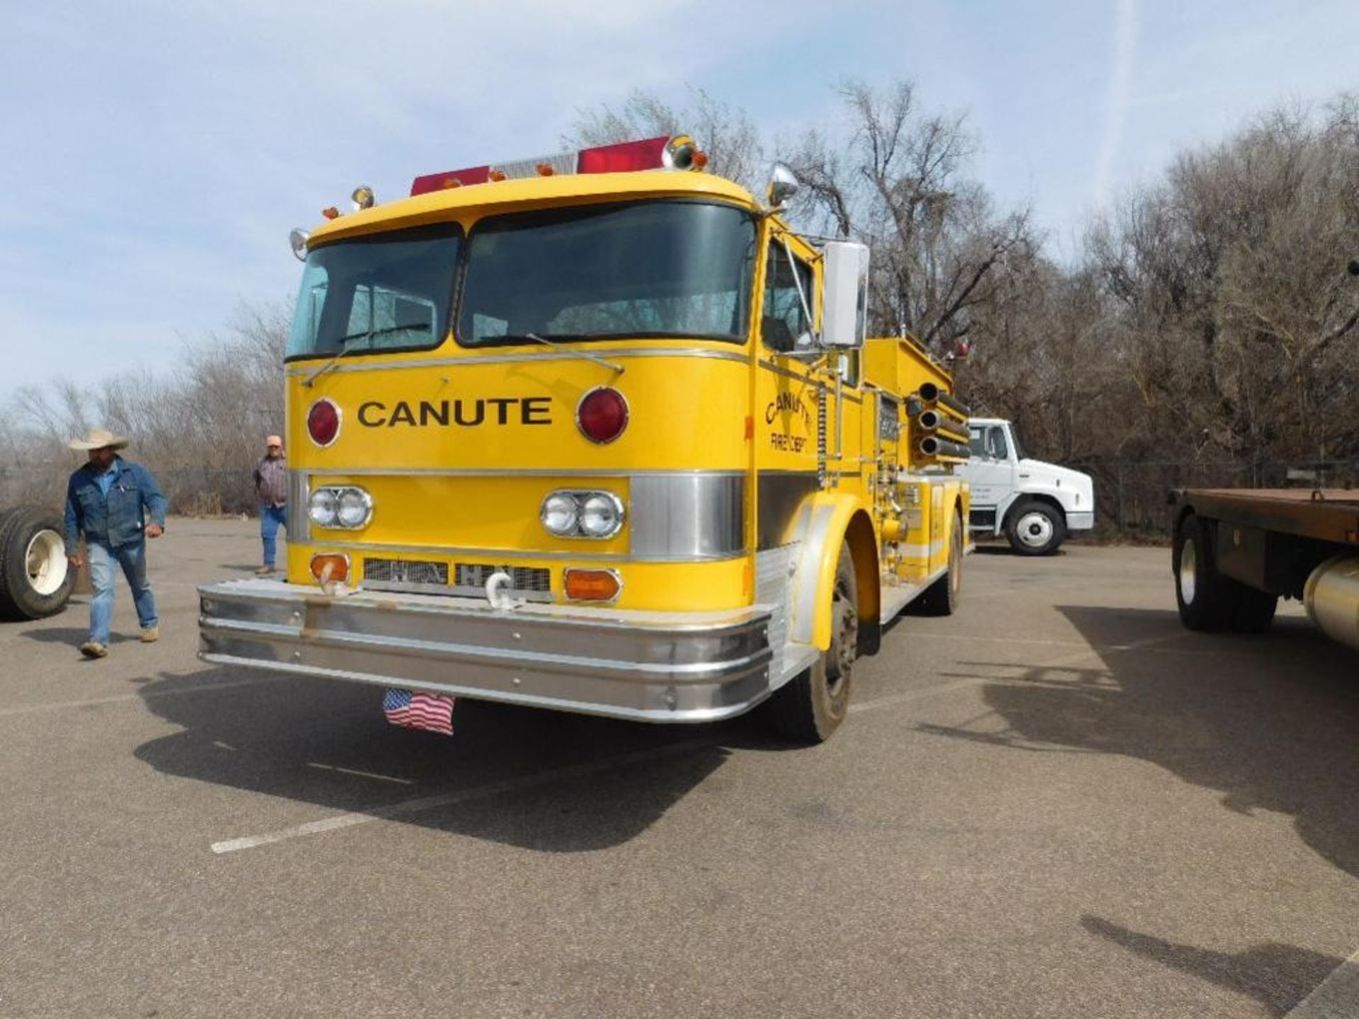
<svg viewBox="0 0 1359 1019"><path fill-rule="evenodd" d="M830 595L830 647L769 698L768 719L779 735L805 745L830 739L849 712L858 649L859 588L845 545Z"/></svg>

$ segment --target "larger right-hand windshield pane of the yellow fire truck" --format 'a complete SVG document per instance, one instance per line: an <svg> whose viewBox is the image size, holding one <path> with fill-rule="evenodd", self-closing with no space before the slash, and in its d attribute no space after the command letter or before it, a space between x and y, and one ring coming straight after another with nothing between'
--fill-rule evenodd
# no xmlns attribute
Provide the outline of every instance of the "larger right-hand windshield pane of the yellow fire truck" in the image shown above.
<svg viewBox="0 0 1359 1019"><path fill-rule="evenodd" d="M746 338L750 213L648 201L496 216L467 242L463 346L613 337Z"/></svg>

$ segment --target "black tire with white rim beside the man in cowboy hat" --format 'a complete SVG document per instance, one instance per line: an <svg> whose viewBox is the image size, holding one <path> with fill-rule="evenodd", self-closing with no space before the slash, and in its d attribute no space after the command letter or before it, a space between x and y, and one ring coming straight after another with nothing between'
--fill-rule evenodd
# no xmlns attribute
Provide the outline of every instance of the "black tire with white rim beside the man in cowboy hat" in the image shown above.
<svg viewBox="0 0 1359 1019"><path fill-rule="evenodd" d="M41 620L67 607L76 572L58 514L33 505L0 518L0 618Z"/></svg>

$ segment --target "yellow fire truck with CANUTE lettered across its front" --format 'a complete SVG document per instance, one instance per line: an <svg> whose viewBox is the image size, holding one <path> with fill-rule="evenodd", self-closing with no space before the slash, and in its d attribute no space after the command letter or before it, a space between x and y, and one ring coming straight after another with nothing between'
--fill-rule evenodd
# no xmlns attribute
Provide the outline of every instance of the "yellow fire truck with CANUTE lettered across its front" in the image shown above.
<svg viewBox="0 0 1359 1019"><path fill-rule="evenodd" d="M866 338L868 250L685 136L325 211L287 353L284 580L202 587L208 662L663 723L844 720L951 613L968 409Z"/></svg>

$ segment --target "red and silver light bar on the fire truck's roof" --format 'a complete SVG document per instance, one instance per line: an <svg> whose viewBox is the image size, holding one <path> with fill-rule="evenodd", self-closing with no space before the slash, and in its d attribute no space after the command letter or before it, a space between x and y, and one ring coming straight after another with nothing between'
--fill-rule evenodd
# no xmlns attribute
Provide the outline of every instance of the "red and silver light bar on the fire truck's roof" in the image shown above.
<svg viewBox="0 0 1359 1019"><path fill-rule="evenodd" d="M447 187L465 187L495 181L519 181L529 177L556 177L559 174L621 174L635 170L703 170L708 156L688 135L662 136L641 141L620 141L595 145L576 152L559 152L535 159L516 159L510 163L473 166L442 174L417 177L410 194L428 194Z"/></svg>

